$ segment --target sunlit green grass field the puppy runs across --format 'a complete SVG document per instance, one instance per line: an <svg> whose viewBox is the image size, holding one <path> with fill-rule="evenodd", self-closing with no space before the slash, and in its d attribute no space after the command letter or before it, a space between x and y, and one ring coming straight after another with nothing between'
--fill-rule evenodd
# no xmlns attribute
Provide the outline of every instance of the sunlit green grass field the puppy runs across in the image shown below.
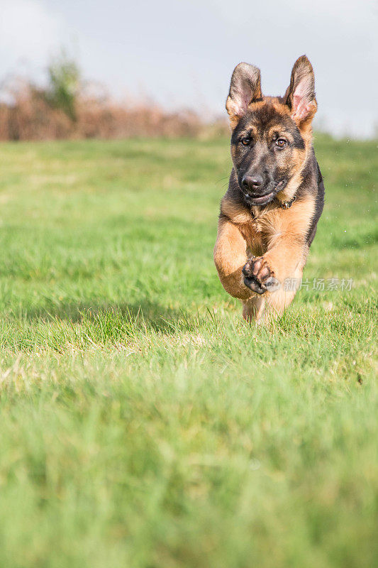
<svg viewBox="0 0 378 568"><path fill-rule="evenodd" d="M0 146L1 567L377 566L377 141L316 151L310 285L255 329L227 140Z"/></svg>

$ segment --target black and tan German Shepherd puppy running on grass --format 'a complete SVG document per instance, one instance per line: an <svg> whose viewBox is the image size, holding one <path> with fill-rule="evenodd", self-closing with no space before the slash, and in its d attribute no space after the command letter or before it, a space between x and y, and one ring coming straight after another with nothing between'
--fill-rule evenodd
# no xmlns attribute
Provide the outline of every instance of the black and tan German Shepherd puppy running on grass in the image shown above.
<svg viewBox="0 0 378 568"><path fill-rule="evenodd" d="M233 169L221 201L214 261L246 320L282 314L301 283L324 204L312 146L313 68L296 60L284 97L263 97L260 70L239 63L226 109Z"/></svg>

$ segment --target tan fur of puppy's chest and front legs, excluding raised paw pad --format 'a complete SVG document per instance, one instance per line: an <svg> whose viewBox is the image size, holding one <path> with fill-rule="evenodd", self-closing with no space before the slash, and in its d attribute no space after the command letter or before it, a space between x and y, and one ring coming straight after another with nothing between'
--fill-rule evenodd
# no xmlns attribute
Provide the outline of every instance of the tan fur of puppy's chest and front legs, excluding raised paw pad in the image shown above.
<svg viewBox="0 0 378 568"><path fill-rule="evenodd" d="M308 198L294 202L290 209L269 204L252 216L246 207L223 199L225 217L219 220L214 261L223 288L243 302L248 300L243 308L246 319L279 315L293 300L296 290L284 290L284 281L301 279L308 253L306 232L314 209L314 200ZM267 261L279 280L279 290L262 297L245 286L242 269L251 254Z"/></svg>

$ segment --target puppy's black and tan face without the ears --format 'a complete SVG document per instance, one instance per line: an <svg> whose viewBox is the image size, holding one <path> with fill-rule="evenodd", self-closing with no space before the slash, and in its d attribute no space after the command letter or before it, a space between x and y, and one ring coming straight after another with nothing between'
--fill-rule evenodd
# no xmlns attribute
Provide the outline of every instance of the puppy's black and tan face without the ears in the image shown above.
<svg viewBox="0 0 378 568"><path fill-rule="evenodd" d="M272 103L255 106L235 126L231 155L244 200L265 205L301 169L306 152L289 114L279 112Z"/></svg>

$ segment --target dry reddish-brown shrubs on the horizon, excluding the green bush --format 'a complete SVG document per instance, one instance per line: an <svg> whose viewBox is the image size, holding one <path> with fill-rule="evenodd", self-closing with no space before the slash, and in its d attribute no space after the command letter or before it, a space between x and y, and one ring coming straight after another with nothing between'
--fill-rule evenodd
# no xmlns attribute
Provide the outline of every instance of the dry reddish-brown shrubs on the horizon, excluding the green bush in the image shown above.
<svg viewBox="0 0 378 568"><path fill-rule="evenodd" d="M61 138L130 138L135 136L207 136L227 131L223 122L205 124L194 111L168 113L150 102L120 103L110 97L81 94L76 120L53 108L43 89L13 82L11 102L0 104L0 140L55 140Z"/></svg>

